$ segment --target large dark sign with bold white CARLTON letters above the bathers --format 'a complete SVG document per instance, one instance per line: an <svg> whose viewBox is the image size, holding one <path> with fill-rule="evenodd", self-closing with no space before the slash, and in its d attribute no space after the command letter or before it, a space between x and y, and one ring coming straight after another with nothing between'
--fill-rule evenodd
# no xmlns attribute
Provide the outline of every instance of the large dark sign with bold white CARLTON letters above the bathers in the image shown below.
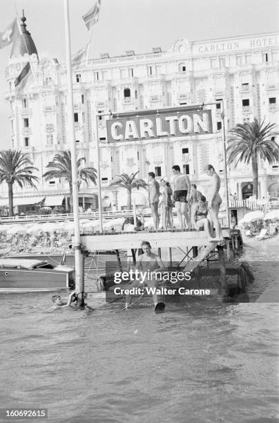
<svg viewBox="0 0 279 423"><path fill-rule="evenodd" d="M152 140L212 133L211 110L171 111L106 121L108 142Z"/></svg>

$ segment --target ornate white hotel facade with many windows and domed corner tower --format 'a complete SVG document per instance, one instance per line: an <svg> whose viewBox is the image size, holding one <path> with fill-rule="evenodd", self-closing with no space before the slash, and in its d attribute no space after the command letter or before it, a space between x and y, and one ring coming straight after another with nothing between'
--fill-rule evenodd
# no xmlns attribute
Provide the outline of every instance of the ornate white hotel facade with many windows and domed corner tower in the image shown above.
<svg viewBox="0 0 279 423"><path fill-rule="evenodd" d="M67 196L68 183L63 180L46 182L41 175L55 153L70 149L66 67L57 59L38 58L35 43L26 30L25 18L22 19L26 42L19 37L12 46L6 68L6 100L10 102L12 149L28 153L39 169L40 183L36 193L26 187L24 194L15 189L15 196L46 197L48 205L56 205ZM37 82L27 84L17 98L14 81L28 59ZM212 106L212 134L108 143L107 117L100 116L101 113L191 106L222 99L226 132L235 124L252 121L254 117L265 119L266 123L278 123L278 71L279 33L193 42L181 38L167 50L153 48L146 54L126 51L118 57L104 53L100 59L89 60L87 66L84 63L75 68L77 151L79 156L86 158L86 165L97 168L96 114L99 114L100 176L102 197L109 198L106 206L116 202L117 207L126 205L125 195L108 187L120 173L140 171L139 177L146 179L148 171L154 171L160 178L171 176L173 164L179 164L206 194L205 164L213 164L224 180L222 119L219 106ZM231 166L228 177L231 194L236 193L238 199L251 195L251 166ZM259 192L265 198L269 193L271 196L279 194L279 163L269 165L260 160ZM2 187L1 196L3 203L6 187ZM22 202L27 204L27 201ZM20 204L20 200L17 203ZM96 207L97 188L82 186L80 203L93 203Z"/></svg>

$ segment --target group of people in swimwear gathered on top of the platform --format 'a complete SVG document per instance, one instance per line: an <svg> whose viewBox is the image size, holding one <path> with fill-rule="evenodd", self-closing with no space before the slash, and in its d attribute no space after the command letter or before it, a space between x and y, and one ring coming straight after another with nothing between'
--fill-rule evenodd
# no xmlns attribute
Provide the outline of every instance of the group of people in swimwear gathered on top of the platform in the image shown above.
<svg viewBox="0 0 279 423"><path fill-rule="evenodd" d="M162 178L157 182L155 173L148 173L149 200L155 229L173 228L173 207L177 212L177 229L204 229L209 241L222 241L221 225L218 220L218 212L222 203L220 197L220 177L214 167L208 164L204 172L209 176L209 185L206 197L197 190L195 184L191 184L189 176L181 173L180 167L175 164L173 170L174 191L168 178ZM160 191L161 185L161 191ZM161 223L158 209L161 209ZM216 237L213 238L213 227Z"/></svg>

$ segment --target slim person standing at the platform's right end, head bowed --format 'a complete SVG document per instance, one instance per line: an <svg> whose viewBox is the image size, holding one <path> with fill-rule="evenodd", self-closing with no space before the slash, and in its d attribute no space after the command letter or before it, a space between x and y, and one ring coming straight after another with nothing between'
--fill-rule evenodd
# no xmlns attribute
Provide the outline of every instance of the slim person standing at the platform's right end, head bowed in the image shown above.
<svg viewBox="0 0 279 423"><path fill-rule="evenodd" d="M204 167L204 172L207 176L210 176L208 191L206 191L206 194L208 199L209 215L216 231L216 237L209 238L209 241L222 241L222 229L218 220L218 212L222 203L222 198L219 195L221 181L211 164L207 164L206 167Z"/></svg>

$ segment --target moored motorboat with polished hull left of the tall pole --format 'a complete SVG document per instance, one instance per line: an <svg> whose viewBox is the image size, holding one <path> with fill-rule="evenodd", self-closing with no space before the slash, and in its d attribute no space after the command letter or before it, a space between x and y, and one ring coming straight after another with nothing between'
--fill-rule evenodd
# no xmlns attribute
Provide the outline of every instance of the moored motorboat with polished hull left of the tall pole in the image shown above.
<svg viewBox="0 0 279 423"><path fill-rule="evenodd" d="M0 259L0 292L41 292L75 288L75 269L46 260Z"/></svg>

